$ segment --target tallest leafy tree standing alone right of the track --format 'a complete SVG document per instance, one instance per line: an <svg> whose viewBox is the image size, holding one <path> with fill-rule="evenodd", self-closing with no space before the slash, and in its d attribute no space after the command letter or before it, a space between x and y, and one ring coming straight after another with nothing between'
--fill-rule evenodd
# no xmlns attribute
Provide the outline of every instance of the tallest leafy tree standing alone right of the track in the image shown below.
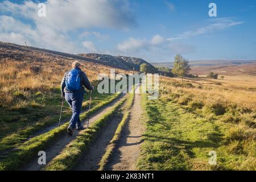
<svg viewBox="0 0 256 182"><path fill-rule="evenodd" d="M172 73L181 77L183 81L183 77L190 71L189 62L187 59L184 59L181 55L176 55L174 58L174 67L172 68Z"/></svg>

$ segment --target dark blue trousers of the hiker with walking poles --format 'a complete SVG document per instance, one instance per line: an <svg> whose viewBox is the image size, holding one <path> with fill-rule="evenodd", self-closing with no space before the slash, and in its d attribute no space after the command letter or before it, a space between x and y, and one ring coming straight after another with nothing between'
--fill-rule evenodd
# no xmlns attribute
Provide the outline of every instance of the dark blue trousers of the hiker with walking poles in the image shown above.
<svg viewBox="0 0 256 182"><path fill-rule="evenodd" d="M72 108L72 117L70 119L70 124L73 128L81 125L80 113L82 109L82 100L84 92L82 90L65 93L65 100L68 102L69 106Z"/></svg>

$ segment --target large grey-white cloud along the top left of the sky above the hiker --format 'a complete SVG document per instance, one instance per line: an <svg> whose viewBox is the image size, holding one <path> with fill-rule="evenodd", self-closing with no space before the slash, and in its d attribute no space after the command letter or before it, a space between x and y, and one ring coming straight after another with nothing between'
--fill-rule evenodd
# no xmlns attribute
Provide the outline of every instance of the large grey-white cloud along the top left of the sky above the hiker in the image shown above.
<svg viewBox="0 0 256 182"><path fill-rule="evenodd" d="M54 30L69 31L77 28L130 28L136 26L133 12L126 0L48 0L46 17L37 15L38 4L24 1L23 4L4 1L0 10L35 20Z"/></svg>

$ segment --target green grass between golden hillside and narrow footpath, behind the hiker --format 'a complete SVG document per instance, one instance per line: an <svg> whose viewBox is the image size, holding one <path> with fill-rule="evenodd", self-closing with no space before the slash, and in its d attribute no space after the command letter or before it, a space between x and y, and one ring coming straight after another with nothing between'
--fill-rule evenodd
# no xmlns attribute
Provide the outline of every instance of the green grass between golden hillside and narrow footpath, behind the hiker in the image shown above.
<svg viewBox="0 0 256 182"><path fill-rule="evenodd" d="M60 91L56 90L55 92L33 100L26 106L28 110L27 114L22 114L20 112L11 111L11 113L4 113L4 110L1 110L1 121L5 121L3 126L9 128L9 130L1 131L0 139L0 152L5 151L11 148L16 148L23 141L27 140L28 137L44 129L45 127L56 124L59 121L59 112L61 107L61 98ZM36 95L42 96L42 93L37 93ZM116 98L117 94L98 94L97 90L93 92L92 108L97 108L101 106L102 103L108 103L109 100ZM85 95L82 109L88 109L89 105L89 93ZM44 104L43 104L44 103ZM32 106L34 108L32 108ZM40 106L40 107L39 107ZM65 102L62 121L68 119L71 116L71 109L68 104ZM11 122L6 118L10 118L10 115L15 117L20 117L19 121ZM1 128L4 130L5 127Z"/></svg>

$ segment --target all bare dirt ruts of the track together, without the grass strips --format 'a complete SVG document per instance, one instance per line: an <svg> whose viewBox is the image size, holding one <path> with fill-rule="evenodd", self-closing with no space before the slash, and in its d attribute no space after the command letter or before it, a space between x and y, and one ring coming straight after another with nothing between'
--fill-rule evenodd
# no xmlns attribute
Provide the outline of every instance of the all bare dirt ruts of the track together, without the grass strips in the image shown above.
<svg viewBox="0 0 256 182"><path fill-rule="evenodd" d="M139 88L137 88L139 89ZM125 94L122 94L117 100L111 104L106 105L104 108L97 111L90 117L90 125L97 121L107 111L112 109L114 104L121 101ZM139 156L140 146L143 142L142 134L144 132L144 125L142 123L142 108L141 108L141 95L135 94L134 103L131 107L130 117L123 129L121 138L118 141L117 147L113 151L114 154L110 157L109 164L106 166L107 170L136 170L137 159ZM105 149L108 146L110 140L113 138L115 130L118 127L119 122L122 120L123 113L116 113L113 118L109 121L108 125L100 131L97 139L93 142L90 149L80 159L75 170L97 170L98 164L102 156L105 153ZM82 123L86 127L87 123ZM53 146L48 146L46 151L47 163L52 160L55 156L59 155L67 144L69 144L77 135L83 131L74 130L73 136L63 135L59 138ZM38 171L44 166L38 164L38 158L33 159L30 163L20 168L20 170Z"/></svg>

